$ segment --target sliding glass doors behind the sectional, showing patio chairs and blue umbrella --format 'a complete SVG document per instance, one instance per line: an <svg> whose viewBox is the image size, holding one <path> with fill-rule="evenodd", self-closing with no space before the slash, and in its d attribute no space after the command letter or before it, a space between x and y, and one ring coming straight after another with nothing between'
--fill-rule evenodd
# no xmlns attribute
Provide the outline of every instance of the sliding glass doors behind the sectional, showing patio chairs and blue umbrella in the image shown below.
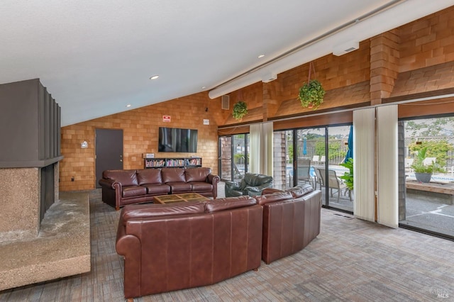
<svg viewBox="0 0 454 302"><path fill-rule="evenodd" d="M350 130L343 125L275 131L273 186L311 184L322 191L323 206L353 213L353 176L344 167L353 150Z"/></svg>

